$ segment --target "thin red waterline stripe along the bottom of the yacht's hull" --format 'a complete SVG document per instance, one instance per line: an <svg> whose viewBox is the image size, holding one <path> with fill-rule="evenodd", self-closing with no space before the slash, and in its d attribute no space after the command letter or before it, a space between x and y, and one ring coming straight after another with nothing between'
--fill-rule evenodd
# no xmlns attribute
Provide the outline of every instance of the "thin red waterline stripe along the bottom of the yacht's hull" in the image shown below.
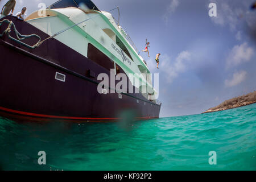
<svg viewBox="0 0 256 182"><path fill-rule="evenodd" d="M1 107L0 106L0 110L3 111L7 111L10 113L15 113L15 114L22 114L22 115L30 115L30 116L34 116L34 117L43 117L43 118L56 118L56 119L75 119L75 120L115 120L115 119L119 119L119 118L82 118L82 117L61 117L61 116L57 116L57 115L46 115L46 114L36 114L36 113L27 113L24 111L18 111L18 110L13 110L13 109L7 109L5 107ZM147 119L147 118L156 118L156 117L139 117L136 119Z"/></svg>

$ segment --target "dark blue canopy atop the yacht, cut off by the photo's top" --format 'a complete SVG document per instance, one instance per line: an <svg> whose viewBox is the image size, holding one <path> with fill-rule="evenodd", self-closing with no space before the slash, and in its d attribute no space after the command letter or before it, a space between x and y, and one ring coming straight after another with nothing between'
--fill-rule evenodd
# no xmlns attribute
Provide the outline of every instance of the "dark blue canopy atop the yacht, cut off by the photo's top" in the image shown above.
<svg viewBox="0 0 256 182"><path fill-rule="evenodd" d="M97 6L94 5L94 3L90 0L60 0L55 3L53 3L48 8L50 9L60 9L60 8L66 8L66 7L80 7L81 3L86 5L90 10L96 10L100 11Z"/></svg>

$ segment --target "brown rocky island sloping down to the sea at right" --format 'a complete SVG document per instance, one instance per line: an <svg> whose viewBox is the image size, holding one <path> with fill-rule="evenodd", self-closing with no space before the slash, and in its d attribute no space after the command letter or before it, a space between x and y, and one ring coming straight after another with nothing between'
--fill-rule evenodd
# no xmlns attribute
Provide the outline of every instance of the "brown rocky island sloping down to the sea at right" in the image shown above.
<svg viewBox="0 0 256 182"><path fill-rule="evenodd" d="M240 97L235 97L230 100L226 100L222 102L220 105L208 109L204 113L212 113L221 110L233 109L236 107L242 107L254 103L256 103L256 91Z"/></svg>

